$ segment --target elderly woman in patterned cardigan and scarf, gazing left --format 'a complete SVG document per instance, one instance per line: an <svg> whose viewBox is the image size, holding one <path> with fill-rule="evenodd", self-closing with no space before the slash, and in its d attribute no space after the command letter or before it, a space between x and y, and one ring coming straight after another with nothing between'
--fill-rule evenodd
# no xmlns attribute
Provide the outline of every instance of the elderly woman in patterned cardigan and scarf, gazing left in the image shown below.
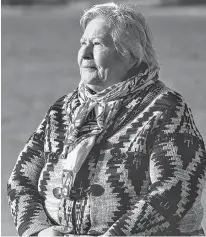
<svg viewBox="0 0 206 237"><path fill-rule="evenodd" d="M108 3L80 24L78 88L50 107L8 183L19 235L204 235L204 143L158 79L144 17Z"/></svg>

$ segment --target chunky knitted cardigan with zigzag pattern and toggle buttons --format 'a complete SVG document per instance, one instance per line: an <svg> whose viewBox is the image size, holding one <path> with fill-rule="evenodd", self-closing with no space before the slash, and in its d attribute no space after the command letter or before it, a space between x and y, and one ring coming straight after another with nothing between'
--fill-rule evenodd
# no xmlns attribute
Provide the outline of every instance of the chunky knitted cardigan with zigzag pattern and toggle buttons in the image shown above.
<svg viewBox="0 0 206 237"><path fill-rule="evenodd" d="M157 80L122 105L65 198L61 152L78 106L77 90L55 102L18 157L8 197L19 235L52 225L77 235L204 235L206 153L182 96Z"/></svg>

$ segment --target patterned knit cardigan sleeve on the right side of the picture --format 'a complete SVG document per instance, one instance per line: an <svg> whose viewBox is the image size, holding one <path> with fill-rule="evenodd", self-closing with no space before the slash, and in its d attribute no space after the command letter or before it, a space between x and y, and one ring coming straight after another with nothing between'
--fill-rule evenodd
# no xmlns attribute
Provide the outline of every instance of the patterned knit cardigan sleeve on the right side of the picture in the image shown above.
<svg viewBox="0 0 206 237"><path fill-rule="evenodd" d="M149 192L104 235L178 235L179 222L200 202L206 154L187 104L167 109L153 131Z"/></svg>

